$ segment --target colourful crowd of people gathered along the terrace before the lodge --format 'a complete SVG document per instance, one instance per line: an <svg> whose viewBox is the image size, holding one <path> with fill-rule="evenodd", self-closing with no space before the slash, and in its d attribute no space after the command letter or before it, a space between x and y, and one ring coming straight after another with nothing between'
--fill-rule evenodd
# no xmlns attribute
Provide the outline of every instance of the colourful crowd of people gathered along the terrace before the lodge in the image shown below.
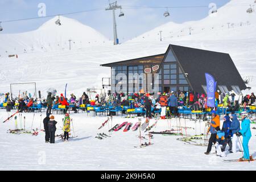
<svg viewBox="0 0 256 182"><path fill-rule="evenodd" d="M236 94L220 93L220 90L217 90L215 93L216 107L218 104L221 104L223 107L228 108L227 111L238 111L240 104L243 106L254 105L255 104L255 95L246 95L243 97L242 102L238 103L238 100L235 100ZM42 107L47 107L47 115L51 114L52 109L57 105L63 106L63 113L67 113L68 109L77 113L77 109L81 105L90 105L90 106L104 106L111 105L116 106L129 106L131 109L135 107L143 107L146 111L146 117L151 117L151 112L154 114L155 111L161 110L161 118L164 119L169 117L171 114L176 117L179 115L177 112L178 108L182 107L191 107L191 110L202 110L205 111L207 106L207 96L194 92L168 92L159 94L155 98L150 93L138 93L134 94L124 94L124 93L114 93L108 98L100 97L98 94L95 98L90 98L84 92L81 97L77 99L74 94L71 94L69 98L65 98L61 93L60 96L52 95L51 92L48 93L46 99L40 98L16 98L10 100L9 93L5 94L6 110L10 111L13 107L17 106L20 112L35 111L34 105L41 105ZM153 108L153 109L151 109ZM86 108L83 108L85 110ZM110 113L114 115L115 113Z"/></svg>

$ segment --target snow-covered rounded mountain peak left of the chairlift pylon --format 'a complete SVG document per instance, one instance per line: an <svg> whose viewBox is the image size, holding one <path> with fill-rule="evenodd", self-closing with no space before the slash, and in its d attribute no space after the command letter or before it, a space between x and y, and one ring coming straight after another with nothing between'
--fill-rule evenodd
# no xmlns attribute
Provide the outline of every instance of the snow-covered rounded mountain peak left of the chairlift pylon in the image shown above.
<svg viewBox="0 0 256 182"><path fill-rule="evenodd" d="M72 40L72 49L110 44L105 36L93 28L64 16L60 16L61 26L59 26L55 24L58 18L56 16L48 20L35 31L21 34L2 34L1 32L0 55L16 55L38 51L67 51L69 50L69 39Z"/></svg>

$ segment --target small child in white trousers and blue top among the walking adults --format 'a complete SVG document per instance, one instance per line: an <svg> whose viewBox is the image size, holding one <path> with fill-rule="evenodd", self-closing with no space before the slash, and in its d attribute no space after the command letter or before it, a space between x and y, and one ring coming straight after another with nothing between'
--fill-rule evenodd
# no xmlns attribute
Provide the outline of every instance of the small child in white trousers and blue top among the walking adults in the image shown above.
<svg viewBox="0 0 256 182"><path fill-rule="evenodd" d="M225 153L225 148L223 147L224 145L224 136L225 136L225 132L220 130L220 126L216 127L216 131L217 131L217 135L216 135L216 143L215 143L215 147L216 147L216 152L217 152L217 156L221 156L221 157L225 157L226 153Z"/></svg>

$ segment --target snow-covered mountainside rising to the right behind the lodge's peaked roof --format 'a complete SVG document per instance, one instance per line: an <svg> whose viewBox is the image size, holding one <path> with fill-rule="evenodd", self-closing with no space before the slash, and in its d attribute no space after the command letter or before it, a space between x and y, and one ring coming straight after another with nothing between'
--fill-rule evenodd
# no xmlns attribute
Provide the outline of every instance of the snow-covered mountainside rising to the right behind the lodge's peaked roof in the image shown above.
<svg viewBox="0 0 256 182"><path fill-rule="evenodd" d="M253 0L231 0L225 6L199 21L177 24L168 22L154 28L130 42L148 42L160 40L223 40L250 39L256 37L256 12L246 13L249 5L256 5ZM210 9L209 9L210 10ZM189 35L191 28L191 35Z"/></svg>

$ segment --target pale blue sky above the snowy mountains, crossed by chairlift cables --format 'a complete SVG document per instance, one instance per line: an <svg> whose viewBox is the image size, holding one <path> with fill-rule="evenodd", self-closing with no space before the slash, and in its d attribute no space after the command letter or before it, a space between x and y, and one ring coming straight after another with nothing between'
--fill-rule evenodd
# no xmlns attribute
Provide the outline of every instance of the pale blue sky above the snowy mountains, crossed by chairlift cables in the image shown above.
<svg viewBox="0 0 256 182"><path fill-rule="evenodd" d="M183 23L202 19L208 15L210 9L209 7L168 9L171 15L166 18L163 16L166 9L127 9L127 6L208 6L209 3L216 3L217 8L219 8L229 2L229 0L118 0L117 2L123 6L123 12L125 13L125 16L119 18L119 10L116 11L118 38L122 42L122 40L129 40L170 21ZM100 11L72 14L67 15L67 17L79 20L81 23L95 28L107 38L113 39L112 11L104 10L108 7L108 0L1 0L0 22L37 17L39 3L46 4L46 15L100 8L102 9ZM49 19L51 18L2 23L4 32L1 32L1 34L35 30Z"/></svg>

